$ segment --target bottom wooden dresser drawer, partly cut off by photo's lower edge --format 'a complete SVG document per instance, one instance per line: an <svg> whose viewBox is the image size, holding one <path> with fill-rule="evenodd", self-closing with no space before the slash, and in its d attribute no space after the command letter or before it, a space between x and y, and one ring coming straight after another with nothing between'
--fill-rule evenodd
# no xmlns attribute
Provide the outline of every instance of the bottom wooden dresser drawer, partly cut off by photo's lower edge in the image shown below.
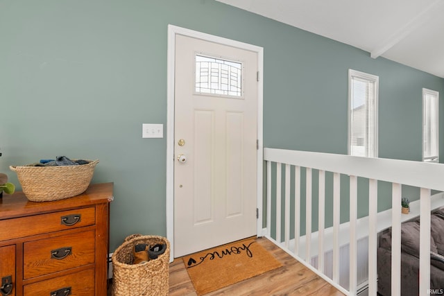
<svg viewBox="0 0 444 296"><path fill-rule="evenodd" d="M94 269L29 284L23 287L23 292L25 296L94 296Z"/></svg>

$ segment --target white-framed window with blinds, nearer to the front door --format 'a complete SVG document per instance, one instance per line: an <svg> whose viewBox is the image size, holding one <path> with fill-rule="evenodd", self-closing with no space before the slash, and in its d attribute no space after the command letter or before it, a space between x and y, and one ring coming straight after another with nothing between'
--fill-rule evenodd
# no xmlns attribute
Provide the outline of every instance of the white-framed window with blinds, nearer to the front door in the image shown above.
<svg viewBox="0 0 444 296"><path fill-rule="evenodd" d="M377 157L379 77L348 71L348 154Z"/></svg>

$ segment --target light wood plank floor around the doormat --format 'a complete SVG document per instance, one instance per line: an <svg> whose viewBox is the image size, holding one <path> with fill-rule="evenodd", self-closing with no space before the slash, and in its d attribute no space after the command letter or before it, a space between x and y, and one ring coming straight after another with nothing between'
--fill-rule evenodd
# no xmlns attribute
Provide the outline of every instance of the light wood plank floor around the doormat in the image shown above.
<svg viewBox="0 0 444 296"><path fill-rule="evenodd" d="M333 286L330 286L321 277L299 263L292 256L268 241L258 238L258 243L273 254L282 267L266 272L252 279L241 281L232 286L221 288L210 295L343 295ZM169 269L169 295L195 296L191 279L182 259L175 259ZM110 293L108 293L110 295Z"/></svg>

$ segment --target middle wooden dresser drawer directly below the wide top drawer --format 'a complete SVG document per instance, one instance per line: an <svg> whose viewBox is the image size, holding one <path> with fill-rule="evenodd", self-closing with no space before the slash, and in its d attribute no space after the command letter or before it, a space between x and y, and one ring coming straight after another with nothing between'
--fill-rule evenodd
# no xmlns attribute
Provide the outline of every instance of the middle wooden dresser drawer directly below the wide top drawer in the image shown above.
<svg viewBox="0 0 444 296"><path fill-rule="evenodd" d="M24 279L94 263L94 230L24 243Z"/></svg>

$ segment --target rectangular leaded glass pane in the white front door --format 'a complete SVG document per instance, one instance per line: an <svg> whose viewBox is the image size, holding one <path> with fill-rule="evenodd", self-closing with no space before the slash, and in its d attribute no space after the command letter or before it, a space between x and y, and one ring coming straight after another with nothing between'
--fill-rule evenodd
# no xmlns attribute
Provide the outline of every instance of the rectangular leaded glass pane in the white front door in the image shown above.
<svg viewBox="0 0 444 296"><path fill-rule="evenodd" d="M242 63L196 55L196 93L243 97Z"/></svg>

